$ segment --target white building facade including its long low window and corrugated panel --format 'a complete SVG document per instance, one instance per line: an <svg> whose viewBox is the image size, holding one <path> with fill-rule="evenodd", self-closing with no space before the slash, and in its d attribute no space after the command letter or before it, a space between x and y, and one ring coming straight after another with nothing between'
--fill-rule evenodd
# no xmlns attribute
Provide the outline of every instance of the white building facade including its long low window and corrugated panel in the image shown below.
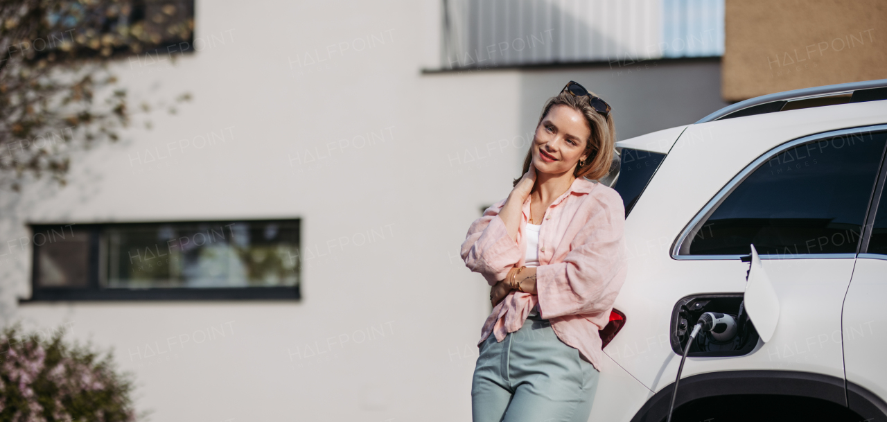
<svg viewBox="0 0 887 422"><path fill-rule="evenodd" d="M673 51L717 25L541 3L524 32L469 13L483 30L457 36L448 7L506 2L198 0L191 51L112 64L137 98L192 102L0 198L4 323L112 350L153 420L466 420L490 305L458 248L546 98L582 83L618 139L726 104L718 48ZM516 40L538 56L472 56Z"/></svg>

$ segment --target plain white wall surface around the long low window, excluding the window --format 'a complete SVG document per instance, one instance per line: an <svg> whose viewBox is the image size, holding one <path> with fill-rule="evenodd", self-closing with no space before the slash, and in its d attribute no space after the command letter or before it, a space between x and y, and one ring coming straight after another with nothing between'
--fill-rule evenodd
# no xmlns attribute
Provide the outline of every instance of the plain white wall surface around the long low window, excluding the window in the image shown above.
<svg viewBox="0 0 887 422"><path fill-rule="evenodd" d="M489 304L459 245L519 176L543 101L582 82L614 107L620 138L724 104L710 61L421 74L439 58L439 9L199 1L201 51L173 66L117 65L137 97L190 91L191 104L78 154L67 187L0 198L0 239L12 241L0 245L0 315L69 323L74 338L113 349L155 421L470 418ZM373 48L355 51L372 35ZM327 56L339 43L351 48ZM223 131L224 143L169 151ZM368 132L384 142L353 144ZM342 139L351 146L329 149ZM155 148L168 158L147 162ZM326 158L309 161L315 149ZM30 253L12 247L26 223L271 217L301 218L302 247L325 254L303 262L301 301L16 302L30 295ZM389 236L339 246L369 230Z"/></svg>

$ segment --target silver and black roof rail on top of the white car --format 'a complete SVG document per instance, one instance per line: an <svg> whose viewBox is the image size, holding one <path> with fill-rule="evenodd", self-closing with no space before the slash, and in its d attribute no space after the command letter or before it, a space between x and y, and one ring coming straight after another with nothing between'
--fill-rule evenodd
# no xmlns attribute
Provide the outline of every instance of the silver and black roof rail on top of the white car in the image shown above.
<svg viewBox="0 0 887 422"><path fill-rule="evenodd" d="M705 123L706 121L717 121L723 119L731 119L734 117L750 116L762 113L775 113L784 108L787 104L797 100L810 98L823 98L829 96L845 95L849 97L849 101L844 103L861 103L863 101L876 101L887 99L887 79L878 79L875 81L838 83L836 85L824 85L820 87L805 88L802 90L787 90L776 92L773 94L762 95L760 97L750 98L740 101L736 104L726 106L717 112L711 113L696 123ZM831 106L839 104L836 102L829 103L820 102L812 106ZM793 107L805 108L805 106Z"/></svg>

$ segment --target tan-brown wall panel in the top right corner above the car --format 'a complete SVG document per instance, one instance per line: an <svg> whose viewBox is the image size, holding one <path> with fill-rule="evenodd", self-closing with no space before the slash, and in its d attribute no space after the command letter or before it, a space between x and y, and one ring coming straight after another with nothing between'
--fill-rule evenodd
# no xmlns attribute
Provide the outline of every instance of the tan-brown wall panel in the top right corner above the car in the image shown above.
<svg viewBox="0 0 887 422"><path fill-rule="evenodd" d="M726 0L726 101L887 78L887 1Z"/></svg>

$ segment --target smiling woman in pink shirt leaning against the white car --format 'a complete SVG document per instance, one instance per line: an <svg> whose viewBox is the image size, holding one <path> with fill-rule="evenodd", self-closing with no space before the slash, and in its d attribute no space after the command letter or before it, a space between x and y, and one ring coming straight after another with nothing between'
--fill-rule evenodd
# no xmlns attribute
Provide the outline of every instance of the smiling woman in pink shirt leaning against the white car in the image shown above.
<svg viewBox="0 0 887 422"><path fill-rule="evenodd" d="M570 81L542 109L514 189L461 247L492 285L471 387L474 422L586 422L598 331L626 275L622 198L597 180L614 153L610 107ZM592 179L592 180L589 180Z"/></svg>

